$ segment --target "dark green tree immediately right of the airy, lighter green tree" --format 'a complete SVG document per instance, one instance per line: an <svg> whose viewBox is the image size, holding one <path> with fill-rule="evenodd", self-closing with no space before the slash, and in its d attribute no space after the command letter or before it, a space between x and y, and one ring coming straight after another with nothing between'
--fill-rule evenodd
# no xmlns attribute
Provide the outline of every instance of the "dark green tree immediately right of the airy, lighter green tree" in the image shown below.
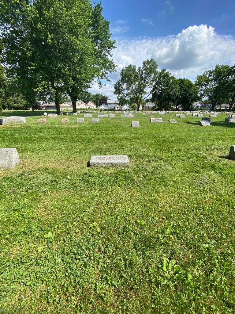
<svg viewBox="0 0 235 314"><path fill-rule="evenodd" d="M152 101L160 110L169 109L175 103L178 93L178 80L169 71L159 71L153 87Z"/></svg>

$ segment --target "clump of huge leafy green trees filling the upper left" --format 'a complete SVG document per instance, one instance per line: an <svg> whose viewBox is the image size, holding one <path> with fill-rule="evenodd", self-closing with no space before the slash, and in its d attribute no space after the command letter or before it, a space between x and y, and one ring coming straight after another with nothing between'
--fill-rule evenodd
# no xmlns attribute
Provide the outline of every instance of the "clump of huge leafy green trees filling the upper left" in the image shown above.
<svg viewBox="0 0 235 314"><path fill-rule="evenodd" d="M69 95L75 112L92 82L102 86L116 69L109 22L90 0L0 0L0 38L1 96L12 107L50 97L60 113ZM88 98L97 103L103 96Z"/></svg>

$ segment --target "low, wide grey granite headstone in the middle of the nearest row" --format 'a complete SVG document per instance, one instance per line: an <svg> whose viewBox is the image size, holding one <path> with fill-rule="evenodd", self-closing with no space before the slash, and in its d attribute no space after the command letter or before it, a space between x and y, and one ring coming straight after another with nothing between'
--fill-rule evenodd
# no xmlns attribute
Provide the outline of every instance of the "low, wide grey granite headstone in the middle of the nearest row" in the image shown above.
<svg viewBox="0 0 235 314"><path fill-rule="evenodd" d="M101 155L91 156L90 166L109 167L109 166L128 166L129 159L127 155Z"/></svg>

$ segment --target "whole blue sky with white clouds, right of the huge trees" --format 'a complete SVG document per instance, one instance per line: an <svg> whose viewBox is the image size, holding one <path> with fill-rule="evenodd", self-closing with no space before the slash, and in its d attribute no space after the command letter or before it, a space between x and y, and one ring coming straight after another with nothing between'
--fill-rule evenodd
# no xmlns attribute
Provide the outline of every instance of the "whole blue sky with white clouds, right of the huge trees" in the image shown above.
<svg viewBox="0 0 235 314"><path fill-rule="evenodd" d="M103 0L102 6L117 40L113 59L118 72L151 57L159 68L194 81L217 63L235 63L235 0ZM91 91L115 99L118 72L100 90L94 83Z"/></svg>

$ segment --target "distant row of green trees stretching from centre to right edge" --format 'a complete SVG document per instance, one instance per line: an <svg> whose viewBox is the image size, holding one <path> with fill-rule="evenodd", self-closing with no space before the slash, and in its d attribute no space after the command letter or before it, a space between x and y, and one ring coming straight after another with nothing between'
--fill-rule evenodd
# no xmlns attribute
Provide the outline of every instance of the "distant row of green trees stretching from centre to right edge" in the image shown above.
<svg viewBox="0 0 235 314"><path fill-rule="evenodd" d="M137 110L146 101L154 102L159 110L177 110L179 106L191 110L193 102L205 97L212 110L223 102L231 110L235 102L235 66L216 65L192 83L186 78L175 78L166 69L158 71L158 64L149 59L142 68L132 64L123 68L114 84L114 94L121 104L135 103Z"/></svg>

